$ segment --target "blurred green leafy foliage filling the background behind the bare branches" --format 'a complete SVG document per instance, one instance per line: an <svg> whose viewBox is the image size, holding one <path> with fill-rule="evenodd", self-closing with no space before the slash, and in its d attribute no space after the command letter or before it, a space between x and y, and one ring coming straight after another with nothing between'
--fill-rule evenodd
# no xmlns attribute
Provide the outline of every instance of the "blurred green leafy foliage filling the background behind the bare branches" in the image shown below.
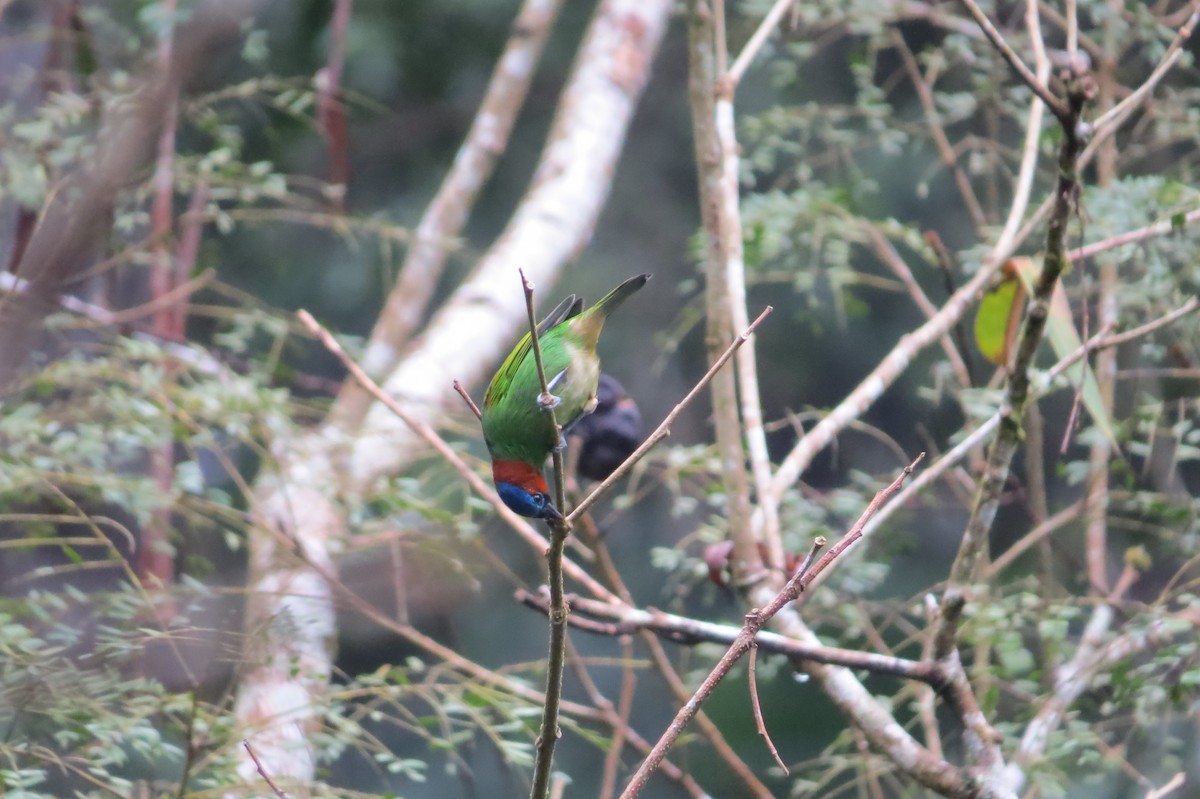
<svg viewBox="0 0 1200 799"><path fill-rule="evenodd" d="M0 210L6 216L38 210L66 174L86 168L101 109L118 107L134 91L163 24L162 2L84 4L85 35L72 52L70 80L44 91L43 52L36 43L47 41L46 20L32 5L11 4L4 30L5 38L22 44L4 56L20 67L7 71L8 98L0 104ZM329 5L275 4L247 26L236 58L200 76L180 106L176 210L205 187L198 211L210 227L196 271L212 266L220 275L193 298L188 341L157 341L137 324L98 329L58 317L53 348L4 398L0 785L8 797L142 789L185 795L216 792L236 780L236 741L245 731L233 728L230 691L247 642L229 631L240 629L246 488L274 467L271 446L278 437L319 420L330 394L324 376L334 372L326 356L293 335L284 308L305 305L350 334L368 330L402 257L404 226L418 218L452 157L508 32L512 4L355 4L344 94L355 142L346 216L329 211L314 119L312 76L323 66ZM736 41L749 36L769 5L738 6L731 19ZM1120 13L1100 0L1079 6L1090 36L1132 43L1115 66L1127 84L1150 72L1174 35L1144 4L1124 4ZM948 6L938 8L950 13ZM502 169L488 187L443 292L486 246L523 188L535 151L529 143L545 130L586 11L564 12L566 34L552 37L545 76L511 146L517 166ZM811 425L919 324L919 312L878 260L864 226L886 235L937 305L949 289L922 234L936 230L952 247L950 278L961 283L978 269L1010 199L1030 92L1008 78L971 25L896 19L895 13L895 4L878 0L797 4L793 19L739 89L746 112L739 136L751 301L769 298L784 317L758 337L775 456L796 440L797 427ZM670 408L672 391L698 374L702 362L696 328L702 289L685 250L696 211L690 152L679 146L688 138L688 116L679 100L685 50L676 28L660 61L665 77L650 86L643 112L660 116L635 128L629 157L636 166L618 176L611 218L576 272L583 280L598 270L626 270L632 248L638 259L659 262L656 281L678 287L676 317L647 314L630 323L624 360L644 362L646 374L622 379L635 395L642 391L648 420ZM896 31L920 68L937 77L935 108L949 138L961 145L958 163L986 216L979 228L931 143L894 49ZM1052 38L1051 46L1061 44L1056 32ZM1028 52L1024 34L1014 34L1013 43ZM1196 208L1198 101L1200 82L1188 55L1156 90L1150 110L1118 134L1117 176L1099 186L1090 170L1073 246ZM652 124L661 118L670 122L659 126L665 132ZM1052 186L1050 131L1039 143L1033 204ZM152 192L151 176L142 174L116 198L106 252L97 253L80 294L120 307L144 301ZM10 234L10 222L4 226ZM1196 238L1194 226L1183 227L1099 257L1120 264L1122 328L1154 319L1200 290ZM1025 246L1031 257L1038 241L1036 235ZM694 241L694 259L697 251ZM1094 330L1096 264L1076 268L1064 288L1078 328ZM652 374L646 352L654 336L670 338L666 360L682 365L662 367L667 376L661 379ZM343 341L358 350L360 340ZM1186 319L1123 348L1121 367L1194 371L1198 342L1200 325ZM815 535L839 535L881 481L906 462L904 452L948 449L995 411L1000 394L985 385L982 359L972 355L974 385L961 386L942 353L923 354L863 425L817 461L805 482L784 498L790 549L805 551ZM1146 645L1103 675L1054 733L1046 757L1031 773L1043 795L1091 795L1091 788L1079 787L1086 779L1123 779L1122 791L1133 795L1145 786L1129 780L1129 764L1157 780L1194 756L1194 733L1187 750L1166 743L1183 740L1200 701L1194 635L1200 414L1195 377L1186 380L1118 382L1114 421L1124 459L1112 462L1110 548L1142 547L1145 558L1135 559L1141 579L1120 603L1121 621L1108 636L1136 635ZM1078 498L1092 469L1086 445L1096 431L1080 411L1081 429L1070 433L1073 394L1063 379L1042 402L1051 511ZM736 605L706 582L703 547L727 534L727 498L704 413L696 411L680 425L684 434L674 444L638 467L601 522L606 529L637 528L637 535L612 546L618 555L626 548L622 565L629 565L626 577L647 603L736 620ZM446 420L445 427L462 451L481 453L475 431L461 419ZM148 467L148 453L164 444L175 452L169 487L158 485ZM1018 473L994 551L1036 521L1027 480L1027 471ZM931 491L898 513L886 535L848 553L806 600L804 613L814 627L841 647L919 657L926 625L920 597L944 576L956 548L966 491L961 483ZM156 600L132 585L127 566L140 528L163 511L173 521L180 573L166 630L156 621ZM506 668L535 683L540 666L529 661L541 655L541 643L523 629L512 632L515 619L528 615L509 609L509 591L512 583L536 583L540 564L515 546L485 539L490 507L470 498L445 465L422 459L348 501L346 513L354 531L352 541L338 542L347 569L378 566L386 559L379 553L397 543L406 559L419 564L410 573L425 581L414 578L413 593L428 595L412 608L414 624L437 629L439 638L481 662L517 663ZM1031 549L986 599L968 607L964 650L974 656L967 668L985 710L1007 735L1006 751L1054 679L1048 665L1069 656L1086 623L1093 600L1078 554L1081 539L1081 524L1068 525L1049 555ZM378 571L370 573L379 579ZM488 607L487 619L470 609L480 606ZM194 641L211 649L208 671L182 679L178 663L187 660ZM611 656L608 643L581 648ZM481 786L505 780L521 793L512 774L528 768L538 708L422 660L378 631L368 638L343 632L342 644L343 673L323 708L325 727L310 741L324 769L322 783L310 786L314 795L450 795L448 786L456 783L466 786L464 794L491 794ZM166 653L168 666L156 671L148 651ZM708 654L697 650L691 666L707 671ZM769 680L772 668L786 669L766 661L760 661L764 693L776 707L804 703L809 719L773 729L785 757L798 761L791 777L767 777L780 795L834 795L894 770L864 752L844 719L814 691ZM917 723L917 691L881 678L868 684L901 723ZM638 711L662 710L646 705ZM737 707L728 714L737 721L728 723L745 723L745 714ZM637 716L635 723L659 729L664 717ZM563 768L584 782L596 773L598 749L606 741L578 720L565 725L582 751L564 753ZM761 755L751 728L731 738L739 751L755 752L749 758ZM956 738L946 745L952 752L960 746ZM709 759L695 757L706 762L692 768L706 786L733 795L737 783L709 773L716 768ZM904 791L884 785L896 794ZM672 789L661 795L674 795Z"/></svg>

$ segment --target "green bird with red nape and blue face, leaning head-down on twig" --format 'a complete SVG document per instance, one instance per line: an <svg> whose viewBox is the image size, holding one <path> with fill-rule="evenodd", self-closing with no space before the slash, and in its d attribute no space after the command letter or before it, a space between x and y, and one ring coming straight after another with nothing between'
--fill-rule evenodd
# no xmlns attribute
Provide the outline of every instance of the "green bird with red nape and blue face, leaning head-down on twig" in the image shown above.
<svg viewBox="0 0 1200 799"><path fill-rule="evenodd" d="M596 341L604 323L649 275L637 275L583 310L582 298L564 299L538 324L538 342L551 400L542 403L538 365L529 334L504 359L484 394L480 422L492 458L492 481L500 499L528 518L557 519L542 468L564 445L550 410L563 431L595 410L600 380Z"/></svg>

